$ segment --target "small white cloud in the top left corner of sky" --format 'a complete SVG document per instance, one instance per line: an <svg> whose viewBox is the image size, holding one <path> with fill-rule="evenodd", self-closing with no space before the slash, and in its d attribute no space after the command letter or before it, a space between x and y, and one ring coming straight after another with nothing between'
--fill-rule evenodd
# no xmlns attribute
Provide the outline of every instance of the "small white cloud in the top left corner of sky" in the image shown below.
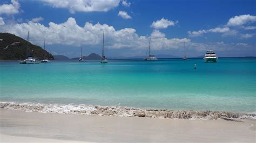
<svg viewBox="0 0 256 143"><path fill-rule="evenodd" d="M14 15L19 13L20 4L16 0L11 0L11 4L0 5L0 15Z"/></svg>

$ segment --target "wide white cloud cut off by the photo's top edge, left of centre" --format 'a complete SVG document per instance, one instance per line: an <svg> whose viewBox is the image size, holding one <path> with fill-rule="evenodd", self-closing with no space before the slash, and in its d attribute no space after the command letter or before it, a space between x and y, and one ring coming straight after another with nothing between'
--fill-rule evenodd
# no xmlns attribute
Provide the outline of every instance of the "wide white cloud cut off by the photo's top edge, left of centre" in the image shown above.
<svg viewBox="0 0 256 143"><path fill-rule="evenodd" d="M43 0L53 8L67 8L71 13L75 12L92 12L92 11L109 11L119 5L120 0Z"/></svg>

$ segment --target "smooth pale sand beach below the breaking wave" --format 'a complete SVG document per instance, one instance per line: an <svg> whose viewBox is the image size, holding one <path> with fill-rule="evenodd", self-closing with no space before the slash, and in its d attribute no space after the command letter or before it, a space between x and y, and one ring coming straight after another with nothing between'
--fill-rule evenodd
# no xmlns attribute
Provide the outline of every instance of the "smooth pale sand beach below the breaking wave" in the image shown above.
<svg viewBox="0 0 256 143"><path fill-rule="evenodd" d="M0 109L0 142L255 142L255 123Z"/></svg>

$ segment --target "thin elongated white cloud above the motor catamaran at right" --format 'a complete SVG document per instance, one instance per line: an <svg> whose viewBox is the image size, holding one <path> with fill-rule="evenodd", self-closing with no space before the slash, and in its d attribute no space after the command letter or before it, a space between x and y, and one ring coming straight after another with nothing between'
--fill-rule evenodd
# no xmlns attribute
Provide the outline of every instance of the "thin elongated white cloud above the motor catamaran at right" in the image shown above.
<svg viewBox="0 0 256 143"><path fill-rule="evenodd" d="M228 27L216 27L216 28L211 28L209 30L199 30L199 31L188 31L188 35L190 35L190 37L198 37L198 36L201 36L205 33L208 33L208 32L212 32L212 33L226 33L226 32L229 32L230 31L230 28Z"/></svg>

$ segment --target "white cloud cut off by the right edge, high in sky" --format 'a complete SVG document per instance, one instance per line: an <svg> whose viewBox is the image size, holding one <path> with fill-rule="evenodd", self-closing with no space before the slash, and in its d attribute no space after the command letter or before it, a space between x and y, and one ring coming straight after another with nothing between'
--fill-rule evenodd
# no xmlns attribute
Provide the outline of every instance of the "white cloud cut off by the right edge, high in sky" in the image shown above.
<svg viewBox="0 0 256 143"><path fill-rule="evenodd" d="M240 26L253 22L256 22L256 16L240 15L230 18L230 20L228 20L227 26Z"/></svg>

